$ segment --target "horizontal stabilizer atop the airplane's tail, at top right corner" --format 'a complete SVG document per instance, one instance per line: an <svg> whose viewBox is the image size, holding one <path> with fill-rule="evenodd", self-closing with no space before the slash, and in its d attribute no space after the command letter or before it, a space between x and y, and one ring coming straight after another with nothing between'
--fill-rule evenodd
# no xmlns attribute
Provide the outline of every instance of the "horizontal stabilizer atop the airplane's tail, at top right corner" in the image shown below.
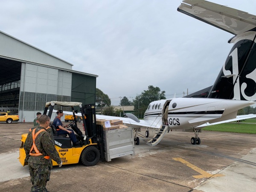
<svg viewBox="0 0 256 192"><path fill-rule="evenodd" d="M234 35L256 27L256 16L205 0L183 0L177 11Z"/></svg>

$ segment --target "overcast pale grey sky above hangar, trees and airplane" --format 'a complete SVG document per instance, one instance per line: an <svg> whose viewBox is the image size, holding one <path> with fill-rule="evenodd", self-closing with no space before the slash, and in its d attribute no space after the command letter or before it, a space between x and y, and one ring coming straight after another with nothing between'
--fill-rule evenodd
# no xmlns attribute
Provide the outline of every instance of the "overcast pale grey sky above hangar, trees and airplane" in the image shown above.
<svg viewBox="0 0 256 192"><path fill-rule="evenodd" d="M256 15L255 0L210 0ZM119 105L149 85L167 98L211 86L232 34L177 12L181 0L4 0L0 30L98 75Z"/></svg>

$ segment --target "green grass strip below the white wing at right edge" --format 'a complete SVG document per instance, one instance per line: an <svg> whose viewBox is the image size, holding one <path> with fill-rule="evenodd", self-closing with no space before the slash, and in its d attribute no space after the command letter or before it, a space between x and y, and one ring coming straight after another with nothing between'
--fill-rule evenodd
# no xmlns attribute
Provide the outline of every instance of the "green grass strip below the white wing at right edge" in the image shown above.
<svg viewBox="0 0 256 192"><path fill-rule="evenodd" d="M211 125L203 128L204 131L220 131L220 132L231 132L231 133L243 133L243 134L256 134L256 119L246 119L243 121L246 123L223 123L218 125ZM250 123L249 123L250 122Z"/></svg>

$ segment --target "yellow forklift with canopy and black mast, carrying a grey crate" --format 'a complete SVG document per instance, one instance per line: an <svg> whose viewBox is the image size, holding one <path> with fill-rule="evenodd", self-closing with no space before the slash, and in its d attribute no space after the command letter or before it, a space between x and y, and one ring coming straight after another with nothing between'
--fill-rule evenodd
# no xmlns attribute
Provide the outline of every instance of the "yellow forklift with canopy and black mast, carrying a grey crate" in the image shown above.
<svg viewBox="0 0 256 192"><path fill-rule="evenodd" d="M95 105L84 105L79 102L58 102L52 101L47 102L44 109L44 114L47 114L51 118L52 111L55 105L61 105L64 107L70 106L73 111L74 120L71 122L67 128L72 128L76 133L76 138L81 142L79 146L72 146L70 137L67 135L58 135L54 125L50 124L52 127L54 135L55 148L57 149L63 165L81 163L84 166L94 166L99 162L100 157L104 157L104 147L103 147L103 127L102 125L96 125L96 115L95 115ZM74 110L74 106L79 106L81 111L81 118L84 124L84 134L77 127L76 114L78 110ZM80 118L80 117L79 117ZM23 149L23 144L26 140L27 134L22 134L21 136L21 146L20 146L20 163L25 166L26 153ZM104 158L103 158L104 159ZM58 165L52 160L53 166Z"/></svg>

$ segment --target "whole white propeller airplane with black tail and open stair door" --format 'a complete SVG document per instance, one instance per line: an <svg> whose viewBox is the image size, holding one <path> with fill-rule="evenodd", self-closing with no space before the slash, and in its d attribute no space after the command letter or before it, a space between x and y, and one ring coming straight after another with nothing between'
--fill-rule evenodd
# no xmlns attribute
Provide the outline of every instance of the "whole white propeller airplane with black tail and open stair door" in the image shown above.
<svg viewBox="0 0 256 192"><path fill-rule="evenodd" d="M151 146L172 129L194 131L191 143L199 145L198 132L205 126L256 117L237 116L239 109L256 103L256 16L205 0L183 0L177 10L232 33L235 36L228 42L234 45L212 86L183 98L151 102L143 120L129 113L125 117L96 115L98 119L121 119L136 129L145 127L146 137L149 128L157 129L147 142ZM138 140L136 135L134 139Z"/></svg>

